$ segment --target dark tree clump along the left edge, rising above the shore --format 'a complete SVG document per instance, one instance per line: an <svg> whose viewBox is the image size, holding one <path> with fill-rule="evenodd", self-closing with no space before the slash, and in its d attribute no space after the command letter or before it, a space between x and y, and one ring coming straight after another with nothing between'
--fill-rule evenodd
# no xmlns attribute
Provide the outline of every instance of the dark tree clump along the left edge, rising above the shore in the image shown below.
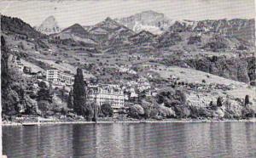
<svg viewBox="0 0 256 158"><path fill-rule="evenodd" d="M12 69L9 69L10 52L1 37L1 98L3 115L15 116L19 113L34 114L36 104L26 94L26 80Z"/></svg>

